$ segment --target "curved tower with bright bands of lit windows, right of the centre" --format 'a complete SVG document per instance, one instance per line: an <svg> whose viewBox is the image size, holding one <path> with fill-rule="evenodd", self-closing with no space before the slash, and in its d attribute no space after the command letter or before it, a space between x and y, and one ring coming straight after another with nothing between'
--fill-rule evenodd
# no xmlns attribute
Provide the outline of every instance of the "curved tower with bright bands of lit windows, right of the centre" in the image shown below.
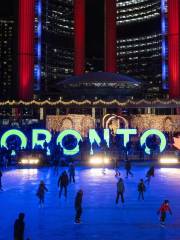
<svg viewBox="0 0 180 240"><path fill-rule="evenodd" d="M166 1L117 0L118 71L140 79L146 97L168 89L166 13Z"/></svg>

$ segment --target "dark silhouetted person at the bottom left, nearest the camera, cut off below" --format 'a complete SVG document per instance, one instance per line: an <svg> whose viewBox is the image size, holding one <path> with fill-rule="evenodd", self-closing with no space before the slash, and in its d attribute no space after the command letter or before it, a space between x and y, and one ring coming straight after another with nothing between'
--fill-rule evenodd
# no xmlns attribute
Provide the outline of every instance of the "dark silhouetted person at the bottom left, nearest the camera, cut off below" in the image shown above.
<svg viewBox="0 0 180 240"><path fill-rule="evenodd" d="M24 213L19 213L18 219L14 223L14 240L24 240Z"/></svg>

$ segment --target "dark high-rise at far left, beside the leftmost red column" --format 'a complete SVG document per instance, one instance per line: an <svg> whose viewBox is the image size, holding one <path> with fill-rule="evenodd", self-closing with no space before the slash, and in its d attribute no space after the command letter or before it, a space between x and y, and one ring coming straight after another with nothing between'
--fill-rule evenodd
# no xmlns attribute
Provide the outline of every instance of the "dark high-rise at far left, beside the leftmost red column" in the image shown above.
<svg viewBox="0 0 180 240"><path fill-rule="evenodd" d="M0 99L16 97L15 69L15 21L13 1L2 0L0 7Z"/></svg>

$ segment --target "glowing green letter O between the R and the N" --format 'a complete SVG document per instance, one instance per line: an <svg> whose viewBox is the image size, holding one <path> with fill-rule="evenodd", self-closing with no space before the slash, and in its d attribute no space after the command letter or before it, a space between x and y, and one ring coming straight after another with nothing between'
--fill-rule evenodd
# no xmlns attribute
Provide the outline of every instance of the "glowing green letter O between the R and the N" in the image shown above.
<svg viewBox="0 0 180 240"><path fill-rule="evenodd" d="M68 135L74 136L77 140L76 146L73 149L70 149L70 150L65 148L64 145L63 145L63 139L64 139L64 137L66 137ZM63 153L65 155L73 156L73 155L75 155L79 152L79 142L80 141L82 141L82 137L81 137L80 133L73 130L73 129L68 129L68 130L62 131L58 135L57 140L56 140L56 144L58 145L60 143L60 146L62 147Z"/></svg>

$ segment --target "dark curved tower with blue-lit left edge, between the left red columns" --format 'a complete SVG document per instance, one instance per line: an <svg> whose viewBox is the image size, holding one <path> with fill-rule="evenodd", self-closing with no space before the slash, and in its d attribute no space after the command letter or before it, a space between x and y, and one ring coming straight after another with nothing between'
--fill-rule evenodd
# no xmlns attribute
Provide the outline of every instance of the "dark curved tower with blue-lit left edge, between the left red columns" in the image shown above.
<svg viewBox="0 0 180 240"><path fill-rule="evenodd" d="M73 74L72 0L36 0L34 90L56 92L56 84Z"/></svg>

